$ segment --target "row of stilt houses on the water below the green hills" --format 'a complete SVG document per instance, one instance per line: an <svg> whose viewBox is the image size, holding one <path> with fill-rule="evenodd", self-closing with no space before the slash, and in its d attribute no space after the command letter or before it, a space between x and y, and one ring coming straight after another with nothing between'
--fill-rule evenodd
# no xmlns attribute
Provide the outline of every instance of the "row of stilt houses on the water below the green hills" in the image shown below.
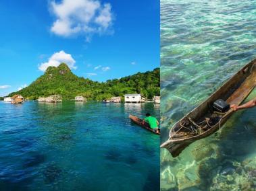
<svg viewBox="0 0 256 191"><path fill-rule="evenodd" d="M3 102L10 102L11 104L22 104L24 101L24 97L22 95L14 95L12 97L5 97L3 98ZM40 97L38 100L40 103L60 103L62 102L61 95L50 95L47 98ZM86 98L82 96L76 96L74 98L75 102L86 102ZM122 97L112 97L110 100L103 100L103 103L121 103ZM153 100L147 100L143 98L142 95L134 93L134 94L125 94L124 95L124 102L125 103L145 103L145 102L153 102L154 104L160 104L160 96L154 96Z"/></svg>

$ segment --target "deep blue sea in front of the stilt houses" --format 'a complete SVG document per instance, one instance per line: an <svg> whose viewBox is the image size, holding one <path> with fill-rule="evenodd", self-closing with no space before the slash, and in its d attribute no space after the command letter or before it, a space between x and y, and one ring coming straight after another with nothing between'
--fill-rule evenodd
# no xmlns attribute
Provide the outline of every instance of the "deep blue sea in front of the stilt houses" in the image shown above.
<svg viewBox="0 0 256 191"><path fill-rule="evenodd" d="M153 104L0 102L0 190L157 190L159 137L132 124Z"/></svg>

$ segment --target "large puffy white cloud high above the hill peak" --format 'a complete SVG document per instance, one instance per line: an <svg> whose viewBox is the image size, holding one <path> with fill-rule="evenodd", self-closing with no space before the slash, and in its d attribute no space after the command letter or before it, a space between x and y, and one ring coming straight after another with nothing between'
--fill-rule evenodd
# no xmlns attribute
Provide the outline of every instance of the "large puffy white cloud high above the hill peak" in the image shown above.
<svg viewBox="0 0 256 191"><path fill-rule="evenodd" d="M56 16L51 32L59 36L85 34L88 40L92 34L111 30L113 13L109 3L101 4L97 0L51 1L51 10Z"/></svg>

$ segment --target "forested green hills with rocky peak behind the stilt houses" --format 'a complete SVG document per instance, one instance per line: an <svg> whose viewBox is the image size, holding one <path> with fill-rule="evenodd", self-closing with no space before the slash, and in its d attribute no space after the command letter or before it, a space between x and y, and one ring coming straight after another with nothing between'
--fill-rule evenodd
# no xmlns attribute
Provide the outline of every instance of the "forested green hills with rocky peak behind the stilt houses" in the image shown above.
<svg viewBox="0 0 256 191"><path fill-rule="evenodd" d="M62 63L59 67L48 67L45 74L28 87L8 96L20 94L28 100L36 100L40 96L59 94L63 96L63 100L74 99L77 95L82 95L88 100L103 100L125 93L140 93L149 99L160 95L159 68L100 83L74 75L68 66Z"/></svg>

